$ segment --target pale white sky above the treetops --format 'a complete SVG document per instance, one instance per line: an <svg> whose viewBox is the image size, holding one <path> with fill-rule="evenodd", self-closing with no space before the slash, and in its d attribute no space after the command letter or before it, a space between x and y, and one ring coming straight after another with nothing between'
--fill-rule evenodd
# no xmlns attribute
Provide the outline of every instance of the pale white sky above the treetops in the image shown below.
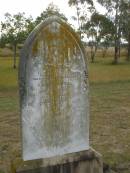
<svg viewBox="0 0 130 173"><path fill-rule="evenodd" d="M12 15L25 12L26 17L31 15L35 19L51 2L57 5L60 12L65 14L68 21L76 27L76 22L71 19L72 16L76 16L76 10L68 6L68 0L3 0L0 5L0 21L4 21L4 14L7 12ZM101 6L96 4L96 7L99 12L104 12Z"/></svg>

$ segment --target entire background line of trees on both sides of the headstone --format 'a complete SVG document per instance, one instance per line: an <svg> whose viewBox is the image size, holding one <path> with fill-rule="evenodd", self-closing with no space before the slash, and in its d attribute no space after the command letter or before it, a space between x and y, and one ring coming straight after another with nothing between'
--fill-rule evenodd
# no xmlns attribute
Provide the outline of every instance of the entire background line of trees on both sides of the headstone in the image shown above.
<svg viewBox="0 0 130 173"><path fill-rule="evenodd" d="M97 0L106 8L106 14L100 14L95 8L94 0L69 0L68 4L76 9L76 16L72 19L78 23L77 32L81 39L87 38L87 45L91 50L91 62L99 47L103 49L105 57L109 46L114 47L113 63L117 64L120 58L120 49L125 43L127 48L127 61L130 61L130 1L129 0ZM44 10L35 20L32 16L26 17L25 13L11 15L5 14L1 22L0 47L6 44L12 46L13 68L16 68L16 50L18 44L23 44L29 33L41 21L49 16L57 15L67 21L53 3Z"/></svg>

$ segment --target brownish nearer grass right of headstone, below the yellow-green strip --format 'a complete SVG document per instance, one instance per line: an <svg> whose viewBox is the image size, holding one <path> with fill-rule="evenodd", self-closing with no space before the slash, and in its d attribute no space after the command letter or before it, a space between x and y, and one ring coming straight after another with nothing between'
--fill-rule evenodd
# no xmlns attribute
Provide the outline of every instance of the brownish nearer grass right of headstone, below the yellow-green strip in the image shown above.
<svg viewBox="0 0 130 173"><path fill-rule="evenodd" d="M130 162L130 81L90 87L92 145L111 165Z"/></svg>

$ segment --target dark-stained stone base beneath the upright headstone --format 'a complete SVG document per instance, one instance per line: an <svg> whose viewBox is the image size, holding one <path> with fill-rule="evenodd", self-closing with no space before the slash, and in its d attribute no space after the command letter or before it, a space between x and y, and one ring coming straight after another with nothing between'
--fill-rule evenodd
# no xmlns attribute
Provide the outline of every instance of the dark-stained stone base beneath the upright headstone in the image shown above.
<svg viewBox="0 0 130 173"><path fill-rule="evenodd" d="M25 161L17 173L103 173L102 156L93 149L51 159Z"/></svg>

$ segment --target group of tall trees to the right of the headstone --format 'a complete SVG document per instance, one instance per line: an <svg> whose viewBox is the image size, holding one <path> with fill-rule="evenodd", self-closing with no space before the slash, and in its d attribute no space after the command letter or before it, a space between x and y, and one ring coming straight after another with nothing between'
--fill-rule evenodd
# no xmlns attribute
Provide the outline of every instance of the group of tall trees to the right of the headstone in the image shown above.
<svg viewBox="0 0 130 173"><path fill-rule="evenodd" d="M117 64L120 58L120 48L123 43L127 47L127 61L130 61L130 1L129 0L97 0L106 9L106 14L97 12L94 0L69 0L70 6L75 6L80 35L89 38L91 61L94 62L99 46L103 46L104 55L110 45L114 46L114 60ZM88 14L90 13L90 17Z"/></svg>

